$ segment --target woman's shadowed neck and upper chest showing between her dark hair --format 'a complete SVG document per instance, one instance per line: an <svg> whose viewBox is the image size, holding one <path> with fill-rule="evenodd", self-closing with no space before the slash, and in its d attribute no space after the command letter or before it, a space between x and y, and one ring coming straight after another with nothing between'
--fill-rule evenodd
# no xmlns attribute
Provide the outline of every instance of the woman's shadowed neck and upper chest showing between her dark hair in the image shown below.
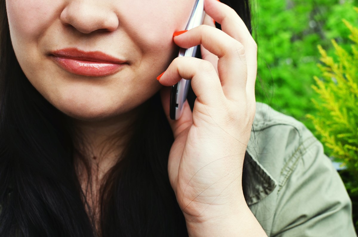
<svg viewBox="0 0 358 237"><path fill-rule="evenodd" d="M106 120L72 120L74 165L86 202L86 211L98 227L100 188L104 175L120 159L140 109Z"/></svg>

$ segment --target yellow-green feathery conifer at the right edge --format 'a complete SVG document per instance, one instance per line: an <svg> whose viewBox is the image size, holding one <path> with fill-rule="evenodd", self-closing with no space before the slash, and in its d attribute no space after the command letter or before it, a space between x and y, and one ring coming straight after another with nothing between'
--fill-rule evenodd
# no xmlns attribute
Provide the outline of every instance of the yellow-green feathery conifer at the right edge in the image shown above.
<svg viewBox="0 0 358 237"><path fill-rule="evenodd" d="M354 10L358 13L358 8ZM333 39L337 55L334 59L318 45L321 54L318 67L322 77L315 76L316 85L312 87L319 100L313 100L317 113L308 117L313 121L326 152L358 180L358 29L344 19L343 22L351 32L351 50L343 49ZM350 182L347 188L350 193L358 192L357 182Z"/></svg>

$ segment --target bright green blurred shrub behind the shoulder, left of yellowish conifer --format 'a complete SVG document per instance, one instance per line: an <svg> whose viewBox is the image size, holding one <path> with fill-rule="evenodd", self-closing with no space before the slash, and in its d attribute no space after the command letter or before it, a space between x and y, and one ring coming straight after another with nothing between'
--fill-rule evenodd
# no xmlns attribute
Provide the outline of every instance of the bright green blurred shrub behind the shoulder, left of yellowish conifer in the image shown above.
<svg viewBox="0 0 358 237"><path fill-rule="evenodd" d="M341 18L358 22L352 8L358 0L253 0L252 4L258 44L256 100L314 130L305 115L314 111L311 98L318 97L311 88L313 76L320 73L316 47L320 44L332 54L332 38L349 47L349 40L341 37L349 33Z"/></svg>

